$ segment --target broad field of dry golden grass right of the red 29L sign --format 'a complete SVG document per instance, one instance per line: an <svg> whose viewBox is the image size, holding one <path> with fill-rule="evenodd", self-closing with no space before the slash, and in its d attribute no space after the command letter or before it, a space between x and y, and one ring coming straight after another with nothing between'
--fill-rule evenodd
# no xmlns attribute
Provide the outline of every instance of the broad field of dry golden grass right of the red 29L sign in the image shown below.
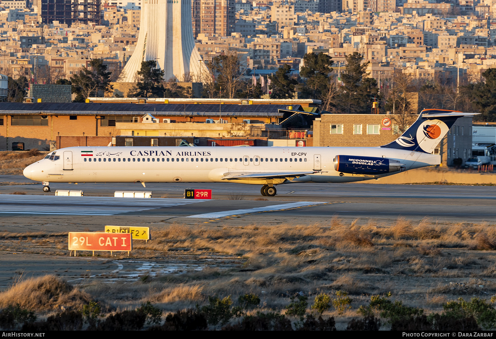
<svg viewBox="0 0 496 339"><path fill-rule="evenodd" d="M20 244L26 237L47 235L0 233L11 242L22 237ZM343 290L354 300L345 317L356 316L370 294L391 291L404 304L427 307L429 313L458 295L489 298L496 293L494 244L494 225L428 219L399 219L392 225L338 218L315 225L172 224L154 229L153 240L137 243L134 253L180 258L175 260L189 253L200 259L215 257L215 264L134 283L93 283L84 290L116 307L152 301L170 311L201 305L209 295L237 300L246 293L260 296L265 309L284 310L291 295L303 292L310 296L310 307L316 293ZM221 268L228 261L229 268Z"/></svg>

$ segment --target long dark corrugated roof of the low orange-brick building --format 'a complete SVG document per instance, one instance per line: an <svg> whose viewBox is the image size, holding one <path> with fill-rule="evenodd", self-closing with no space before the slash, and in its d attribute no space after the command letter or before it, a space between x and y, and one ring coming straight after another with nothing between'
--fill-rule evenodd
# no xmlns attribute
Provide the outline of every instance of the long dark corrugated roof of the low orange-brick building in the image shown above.
<svg viewBox="0 0 496 339"><path fill-rule="evenodd" d="M234 105L234 104L116 104L116 103L0 103L0 115L60 114L60 115L217 115L223 116L281 116L279 110L286 105ZM301 105L293 105L301 110Z"/></svg>

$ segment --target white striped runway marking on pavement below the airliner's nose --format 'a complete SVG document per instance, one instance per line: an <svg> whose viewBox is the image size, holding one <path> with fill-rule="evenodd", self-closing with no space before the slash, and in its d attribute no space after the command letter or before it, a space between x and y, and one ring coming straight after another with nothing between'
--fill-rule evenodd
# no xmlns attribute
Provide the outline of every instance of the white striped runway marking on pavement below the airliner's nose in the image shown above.
<svg viewBox="0 0 496 339"><path fill-rule="evenodd" d="M111 216L204 201L210 200L0 194L0 213Z"/></svg>

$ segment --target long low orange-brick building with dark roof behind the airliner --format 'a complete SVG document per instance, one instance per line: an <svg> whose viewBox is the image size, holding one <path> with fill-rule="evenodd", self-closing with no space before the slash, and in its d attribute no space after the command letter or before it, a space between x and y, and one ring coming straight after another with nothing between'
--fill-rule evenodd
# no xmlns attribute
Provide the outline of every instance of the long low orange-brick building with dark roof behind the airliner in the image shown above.
<svg viewBox="0 0 496 339"><path fill-rule="evenodd" d="M0 150L10 150L13 142L23 142L24 149L43 151L61 144L62 147L107 146L118 135L165 136L167 133L167 136L183 137L191 136L192 132L197 137L218 137L240 131L247 136L246 129L258 136L261 130L282 128L279 124L309 129L318 113L315 108L307 110L310 112L298 104L4 102L0 103ZM158 123L139 122L147 113L153 114ZM216 123L219 120L222 121ZM120 125L128 134L122 133ZM252 125L258 130L251 128ZM215 133L206 132L216 127L219 129Z"/></svg>

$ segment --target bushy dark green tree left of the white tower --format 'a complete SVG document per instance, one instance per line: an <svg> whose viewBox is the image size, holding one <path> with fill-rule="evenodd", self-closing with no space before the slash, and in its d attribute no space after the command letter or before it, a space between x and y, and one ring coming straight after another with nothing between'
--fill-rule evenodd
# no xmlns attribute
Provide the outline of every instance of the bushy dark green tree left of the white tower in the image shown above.
<svg viewBox="0 0 496 339"><path fill-rule="evenodd" d="M76 94L75 102L83 102L91 96L103 96L105 92L113 89L110 84L111 72L107 72L107 65L103 63L103 59L91 60L90 67L91 70L83 67L79 74L70 78L72 93Z"/></svg>

